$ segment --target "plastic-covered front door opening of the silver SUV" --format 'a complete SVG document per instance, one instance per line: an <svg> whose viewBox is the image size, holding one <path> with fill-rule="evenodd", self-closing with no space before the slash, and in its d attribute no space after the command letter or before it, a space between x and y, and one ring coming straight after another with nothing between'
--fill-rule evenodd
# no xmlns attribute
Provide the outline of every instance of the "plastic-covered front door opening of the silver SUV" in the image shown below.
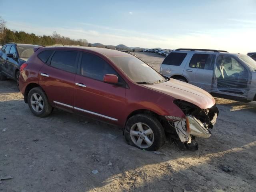
<svg viewBox="0 0 256 192"><path fill-rule="evenodd" d="M218 56L214 72L218 91L238 95L247 93L250 81L249 71L234 56Z"/></svg>

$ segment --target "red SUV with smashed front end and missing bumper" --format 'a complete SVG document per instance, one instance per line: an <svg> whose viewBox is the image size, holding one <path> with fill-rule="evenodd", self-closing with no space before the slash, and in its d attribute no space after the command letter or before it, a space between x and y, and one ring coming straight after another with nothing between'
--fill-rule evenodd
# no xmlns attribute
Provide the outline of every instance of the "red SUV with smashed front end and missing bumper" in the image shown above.
<svg viewBox="0 0 256 192"><path fill-rule="evenodd" d="M34 48L20 72L19 88L34 115L45 117L56 107L122 126L128 144L140 149L158 150L166 134L197 149L195 137L210 137L218 116L204 90L117 50Z"/></svg>

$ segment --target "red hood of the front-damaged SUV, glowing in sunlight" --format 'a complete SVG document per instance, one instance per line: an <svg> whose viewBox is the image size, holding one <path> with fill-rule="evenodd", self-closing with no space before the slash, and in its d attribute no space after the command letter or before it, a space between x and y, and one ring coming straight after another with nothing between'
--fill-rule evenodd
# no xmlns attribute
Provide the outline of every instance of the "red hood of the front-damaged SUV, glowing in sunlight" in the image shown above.
<svg viewBox="0 0 256 192"><path fill-rule="evenodd" d="M170 79L163 83L143 85L158 92L170 95L175 99L190 102L201 109L210 108L215 104L214 98L208 92L179 80Z"/></svg>

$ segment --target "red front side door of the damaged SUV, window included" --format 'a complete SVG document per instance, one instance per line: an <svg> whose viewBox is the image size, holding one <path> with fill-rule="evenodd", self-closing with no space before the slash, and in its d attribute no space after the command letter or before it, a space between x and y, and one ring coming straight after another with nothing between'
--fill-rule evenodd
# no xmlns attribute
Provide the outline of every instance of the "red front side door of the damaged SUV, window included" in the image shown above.
<svg viewBox="0 0 256 192"><path fill-rule="evenodd" d="M74 110L92 118L118 124L125 109L124 80L105 60L82 53L80 72L74 86ZM103 82L105 74L115 74L123 86Z"/></svg>

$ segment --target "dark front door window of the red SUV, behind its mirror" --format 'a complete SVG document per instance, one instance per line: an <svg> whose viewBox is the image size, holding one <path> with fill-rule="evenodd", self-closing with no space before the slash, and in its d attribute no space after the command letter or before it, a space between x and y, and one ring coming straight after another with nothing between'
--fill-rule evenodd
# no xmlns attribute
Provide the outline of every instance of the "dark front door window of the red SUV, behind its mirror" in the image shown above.
<svg viewBox="0 0 256 192"><path fill-rule="evenodd" d="M117 72L102 58L92 54L82 54L80 74L92 79L103 81L105 74L114 74L121 78Z"/></svg>

